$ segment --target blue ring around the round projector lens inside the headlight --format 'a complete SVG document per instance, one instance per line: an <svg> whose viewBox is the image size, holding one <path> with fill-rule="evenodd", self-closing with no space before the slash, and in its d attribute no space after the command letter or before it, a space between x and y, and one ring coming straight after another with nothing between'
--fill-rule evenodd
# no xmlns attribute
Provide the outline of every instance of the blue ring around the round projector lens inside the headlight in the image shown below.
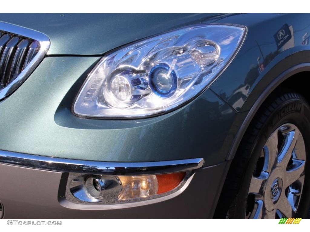
<svg viewBox="0 0 310 232"><path fill-rule="evenodd" d="M175 93L175 91L178 87L178 78L175 74L175 71L172 70L170 73L170 76L172 77L171 88L168 91L162 91L160 88L158 88L158 86L155 82L155 77L156 77L157 73L161 70L165 70L165 71L169 72L170 66L165 64L165 63L159 63L159 64L154 65L151 68L151 70L148 74L150 87L153 90L153 92L159 97L163 97L163 98L171 97Z"/></svg>

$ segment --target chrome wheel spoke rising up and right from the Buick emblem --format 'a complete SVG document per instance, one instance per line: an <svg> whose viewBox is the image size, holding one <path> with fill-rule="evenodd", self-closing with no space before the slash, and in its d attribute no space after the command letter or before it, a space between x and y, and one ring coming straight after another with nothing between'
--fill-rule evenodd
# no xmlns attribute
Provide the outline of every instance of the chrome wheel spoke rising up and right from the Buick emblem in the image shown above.
<svg viewBox="0 0 310 232"><path fill-rule="evenodd" d="M296 141L299 137L299 130L293 130L284 135L282 149L278 156L278 165L286 169L295 148Z"/></svg>

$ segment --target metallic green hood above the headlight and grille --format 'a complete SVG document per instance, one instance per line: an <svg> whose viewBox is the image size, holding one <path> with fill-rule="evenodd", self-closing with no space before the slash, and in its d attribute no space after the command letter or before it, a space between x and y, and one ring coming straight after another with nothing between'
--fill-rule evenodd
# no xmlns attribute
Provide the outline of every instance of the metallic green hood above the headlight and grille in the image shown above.
<svg viewBox="0 0 310 232"><path fill-rule="evenodd" d="M47 55L99 55L132 41L227 14L0 14L0 21L46 34Z"/></svg>

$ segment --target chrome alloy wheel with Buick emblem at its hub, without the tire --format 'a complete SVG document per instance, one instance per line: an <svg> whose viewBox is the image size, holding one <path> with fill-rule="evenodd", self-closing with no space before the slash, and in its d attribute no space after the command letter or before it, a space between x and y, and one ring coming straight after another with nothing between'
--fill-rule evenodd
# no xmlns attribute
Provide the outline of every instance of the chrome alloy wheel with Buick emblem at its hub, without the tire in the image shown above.
<svg viewBox="0 0 310 232"><path fill-rule="evenodd" d="M294 217L304 184L306 150L303 136L291 123L268 138L251 178L246 218Z"/></svg>

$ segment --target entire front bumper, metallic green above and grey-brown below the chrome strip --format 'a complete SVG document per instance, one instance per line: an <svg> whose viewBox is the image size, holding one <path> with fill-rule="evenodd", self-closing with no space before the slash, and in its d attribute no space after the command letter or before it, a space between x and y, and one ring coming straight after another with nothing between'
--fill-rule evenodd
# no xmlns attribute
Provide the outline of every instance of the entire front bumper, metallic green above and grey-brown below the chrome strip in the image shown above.
<svg viewBox="0 0 310 232"><path fill-rule="evenodd" d="M0 102L0 150L112 163L201 158L204 168L169 199L94 209L65 199L67 170L0 161L4 218L212 218L240 114L207 89L180 109L153 118L79 118L71 107L99 58L44 58L20 88Z"/></svg>

